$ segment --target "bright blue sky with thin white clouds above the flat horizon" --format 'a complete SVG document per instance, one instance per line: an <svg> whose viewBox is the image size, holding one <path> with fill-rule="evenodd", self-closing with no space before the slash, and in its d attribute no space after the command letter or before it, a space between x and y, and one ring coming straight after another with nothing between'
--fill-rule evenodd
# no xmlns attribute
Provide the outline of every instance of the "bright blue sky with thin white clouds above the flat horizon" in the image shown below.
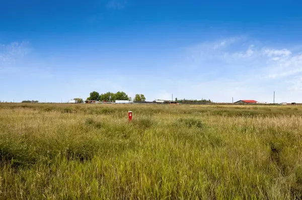
<svg viewBox="0 0 302 200"><path fill-rule="evenodd" d="M300 1L3 1L0 100L302 102Z"/></svg>

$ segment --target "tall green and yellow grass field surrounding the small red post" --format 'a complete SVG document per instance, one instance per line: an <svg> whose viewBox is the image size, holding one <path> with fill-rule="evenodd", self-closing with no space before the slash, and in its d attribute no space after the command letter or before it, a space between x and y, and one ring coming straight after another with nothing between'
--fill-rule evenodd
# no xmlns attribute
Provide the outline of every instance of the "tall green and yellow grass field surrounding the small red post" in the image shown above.
<svg viewBox="0 0 302 200"><path fill-rule="evenodd" d="M299 199L301 137L299 106L0 103L0 198Z"/></svg>

